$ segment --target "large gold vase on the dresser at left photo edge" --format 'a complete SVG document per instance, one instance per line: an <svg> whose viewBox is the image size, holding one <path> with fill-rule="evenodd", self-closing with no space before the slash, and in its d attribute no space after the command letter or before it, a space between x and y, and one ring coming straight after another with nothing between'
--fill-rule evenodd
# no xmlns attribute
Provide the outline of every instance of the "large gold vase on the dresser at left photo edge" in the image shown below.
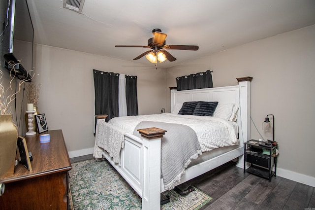
<svg viewBox="0 0 315 210"><path fill-rule="evenodd" d="M0 114L0 178L14 174L17 139L12 114Z"/></svg>

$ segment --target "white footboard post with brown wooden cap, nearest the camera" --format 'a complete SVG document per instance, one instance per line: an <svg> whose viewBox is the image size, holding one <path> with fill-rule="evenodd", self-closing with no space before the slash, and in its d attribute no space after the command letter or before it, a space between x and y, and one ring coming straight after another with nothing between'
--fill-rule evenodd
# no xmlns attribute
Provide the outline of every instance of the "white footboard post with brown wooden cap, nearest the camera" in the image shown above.
<svg viewBox="0 0 315 210"><path fill-rule="evenodd" d="M161 138L165 130L138 129L143 140L142 210L159 210L161 193Z"/></svg>

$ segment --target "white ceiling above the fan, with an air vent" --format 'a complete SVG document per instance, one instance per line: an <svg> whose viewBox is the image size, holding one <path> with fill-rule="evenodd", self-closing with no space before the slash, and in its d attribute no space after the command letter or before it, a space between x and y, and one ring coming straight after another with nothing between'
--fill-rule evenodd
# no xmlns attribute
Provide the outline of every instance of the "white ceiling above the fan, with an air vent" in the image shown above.
<svg viewBox="0 0 315 210"><path fill-rule="evenodd" d="M148 49L115 45L147 45L159 28L166 44L199 46L168 50L177 60L162 68L315 24L315 0L85 0L82 14L63 0L28 4L39 44L133 61Z"/></svg>

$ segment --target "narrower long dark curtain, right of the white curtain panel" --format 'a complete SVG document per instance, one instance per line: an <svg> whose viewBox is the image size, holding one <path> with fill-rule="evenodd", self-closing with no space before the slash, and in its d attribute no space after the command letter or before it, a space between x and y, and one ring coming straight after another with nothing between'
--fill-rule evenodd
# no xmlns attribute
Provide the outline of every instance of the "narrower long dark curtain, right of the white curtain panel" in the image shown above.
<svg viewBox="0 0 315 210"><path fill-rule="evenodd" d="M128 116L138 115L137 76L126 75L126 103Z"/></svg>

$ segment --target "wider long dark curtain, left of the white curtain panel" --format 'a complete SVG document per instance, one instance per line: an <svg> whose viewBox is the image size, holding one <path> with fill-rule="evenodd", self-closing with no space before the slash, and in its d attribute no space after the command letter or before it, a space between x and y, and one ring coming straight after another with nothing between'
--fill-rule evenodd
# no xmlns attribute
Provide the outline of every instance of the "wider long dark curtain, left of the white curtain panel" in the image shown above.
<svg viewBox="0 0 315 210"><path fill-rule="evenodd" d="M95 114L107 114L106 122L118 117L119 73L93 70Z"/></svg>

